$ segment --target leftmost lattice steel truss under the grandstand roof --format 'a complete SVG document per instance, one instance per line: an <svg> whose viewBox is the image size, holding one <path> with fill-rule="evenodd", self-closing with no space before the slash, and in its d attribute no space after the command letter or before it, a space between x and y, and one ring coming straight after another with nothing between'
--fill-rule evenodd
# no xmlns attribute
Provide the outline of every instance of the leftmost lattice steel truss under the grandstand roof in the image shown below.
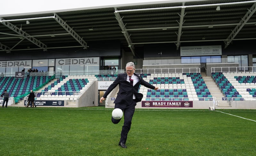
<svg viewBox="0 0 256 156"><path fill-rule="evenodd" d="M20 30L20 28L14 26L12 23L8 22L8 21L4 21L3 18L0 18L0 23L2 23L4 26L8 27L9 29L11 29L12 31L14 31L15 33L18 33L20 36L22 36L23 38L27 39L28 41L32 42L33 44L35 44L36 46L42 48L44 51L47 51L47 46L42 43L41 41L37 40L35 37L29 37L30 35L28 33L26 33L23 30Z"/></svg>

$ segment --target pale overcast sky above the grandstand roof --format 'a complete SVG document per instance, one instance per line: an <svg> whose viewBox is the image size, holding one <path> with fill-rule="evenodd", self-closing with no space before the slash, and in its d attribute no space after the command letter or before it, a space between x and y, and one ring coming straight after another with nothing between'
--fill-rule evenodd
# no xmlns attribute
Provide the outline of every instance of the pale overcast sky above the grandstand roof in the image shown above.
<svg viewBox="0 0 256 156"><path fill-rule="evenodd" d="M29 12L55 11L75 8L88 8L107 5L159 2L167 0L1 0L1 15ZM175 0L168 0L175 1ZM177 0L176 0L177 1Z"/></svg>

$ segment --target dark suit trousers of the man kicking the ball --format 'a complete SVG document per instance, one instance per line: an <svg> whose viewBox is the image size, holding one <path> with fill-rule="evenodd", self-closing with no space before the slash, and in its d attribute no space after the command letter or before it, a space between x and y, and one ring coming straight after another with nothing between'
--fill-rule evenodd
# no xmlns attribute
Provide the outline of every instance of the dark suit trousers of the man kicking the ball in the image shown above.
<svg viewBox="0 0 256 156"><path fill-rule="evenodd" d="M135 111L135 106L136 106L136 102L135 100L132 101L131 105L124 105L124 104L116 104L115 108L120 108L122 109L122 111L124 112L124 125L122 127L122 131L121 131L121 138L120 141L121 143L126 143L127 140L127 134L129 132L129 130L131 129L131 125L132 125L132 116L134 114ZM116 120L112 117L112 123L119 123L121 119Z"/></svg>

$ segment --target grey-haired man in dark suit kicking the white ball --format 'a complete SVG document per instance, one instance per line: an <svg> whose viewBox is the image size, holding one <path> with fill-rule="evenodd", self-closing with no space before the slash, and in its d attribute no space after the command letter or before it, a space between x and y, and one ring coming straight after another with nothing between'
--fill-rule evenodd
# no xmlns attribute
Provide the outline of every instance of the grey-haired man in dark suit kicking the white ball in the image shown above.
<svg viewBox="0 0 256 156"><path fill-rule="evenodd" d="M150 89L157 90L158 87L149 84L141 78L140 74L134 73L135 66L133 62L126 64L126 73L120 73L117 75L116 80L108 87L105 94L100 98L100 103L105 100L108 94L119 85L119 92L117 93L115 108L120 108L124 112L124 125L121 131L121 138L119 146L127 148L125 145L127 140L127 134L131 129L132 116L135 111L136 103L142 100L143 94L138 93L139 86L144 85ZM112 123L119 123L121 119L116 120L112 117Z"/></svg>

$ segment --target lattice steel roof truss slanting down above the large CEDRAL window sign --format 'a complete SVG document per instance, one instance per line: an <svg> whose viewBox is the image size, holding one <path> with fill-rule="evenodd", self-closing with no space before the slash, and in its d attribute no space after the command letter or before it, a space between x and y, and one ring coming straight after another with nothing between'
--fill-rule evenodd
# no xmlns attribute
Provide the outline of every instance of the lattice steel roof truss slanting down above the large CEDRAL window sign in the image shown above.
<svg viewBox="0 0 256 156"><path fill-rule="evenodd" d="M56 13L54 13L54 19L72 36L74 37L74 39L76 39L76 41L81 44L84 49L87 49L87 43L83 40L83 38L81 36L79 36L74 30L73 28L71 28L70 26L68 26L68 24L66 23L67 21L63 21L63 19L60 18L59 15L57 15Z"/></svg>

